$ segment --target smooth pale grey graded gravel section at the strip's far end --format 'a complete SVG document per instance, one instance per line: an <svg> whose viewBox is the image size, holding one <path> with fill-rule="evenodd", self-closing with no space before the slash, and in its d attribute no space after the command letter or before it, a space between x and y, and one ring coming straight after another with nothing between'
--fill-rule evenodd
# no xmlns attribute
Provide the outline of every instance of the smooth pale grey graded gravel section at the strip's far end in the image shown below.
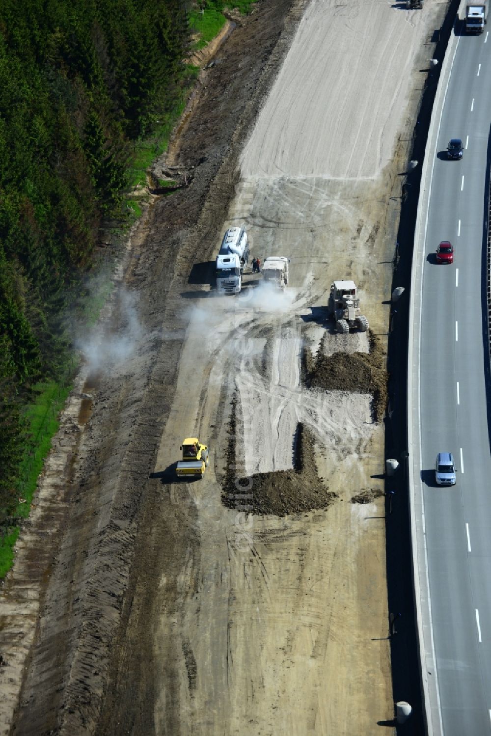
<svg viewBox="0 0 491 736"><path fill-rule="evenodd" d="M312 0L244 149L242 175L373 179L392 159L428 14Z"/></svg>

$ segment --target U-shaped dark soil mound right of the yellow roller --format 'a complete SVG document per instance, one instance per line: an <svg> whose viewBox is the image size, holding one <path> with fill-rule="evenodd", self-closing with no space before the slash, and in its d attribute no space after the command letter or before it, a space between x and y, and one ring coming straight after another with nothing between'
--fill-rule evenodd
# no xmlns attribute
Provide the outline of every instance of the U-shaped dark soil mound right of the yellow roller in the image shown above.
<svg viewBox="0 0 491 736"><path fill-rule="evenodd" d="M234 436L233 431L230 435ZM235 448L230 447L229 457L232 456L235 456ZM294 470L255 473L249 478L238 479L232 473L227 474L222 492L223 503L237 511L275 516L325 509L337 494L330 492L317 475L314 437L301 424L297 430L296 460ZM229 467L233 467L233 464L229 463Z"/></svg>

